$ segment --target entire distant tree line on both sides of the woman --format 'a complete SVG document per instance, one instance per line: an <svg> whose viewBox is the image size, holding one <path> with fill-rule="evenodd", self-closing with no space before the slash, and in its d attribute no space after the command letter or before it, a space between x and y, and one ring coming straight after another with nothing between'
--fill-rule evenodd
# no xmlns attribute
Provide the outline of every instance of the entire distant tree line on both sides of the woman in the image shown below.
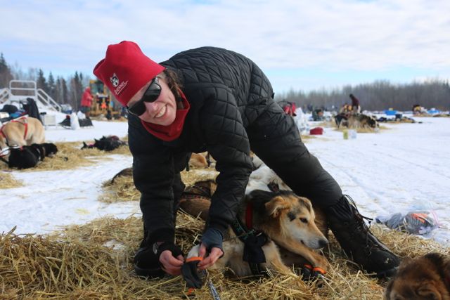
<svg viewBox="0 0 450 300"><path fill-rule="evenodd" d="M0 54L0 89L8 87L11 79L34 80L37 87L43 89L58 103L68 103L77 109L82 97L84 86L89 83L89 77L81 72L75 72L72 76L53 77L50 72L44 76L41 69L30 68L23 72L20 67L11 67L6 63L3 53ZM353 93L359 98L362 110L385 110L390 107L395 110L411 110L413 105L420 104L423 107L436 107L441 110L450 109L449 81L430 79L424 82L410 84L391 84L390 81L380 80L369 84L356 86L343 86L337 89L321 89L309 92L291 89L285 93L276 93L275 100L286 100L295 103L297 107L311 109L312 107L324 107L327 110L338 110L345 103L351 103L349 94Z"/></svg>

